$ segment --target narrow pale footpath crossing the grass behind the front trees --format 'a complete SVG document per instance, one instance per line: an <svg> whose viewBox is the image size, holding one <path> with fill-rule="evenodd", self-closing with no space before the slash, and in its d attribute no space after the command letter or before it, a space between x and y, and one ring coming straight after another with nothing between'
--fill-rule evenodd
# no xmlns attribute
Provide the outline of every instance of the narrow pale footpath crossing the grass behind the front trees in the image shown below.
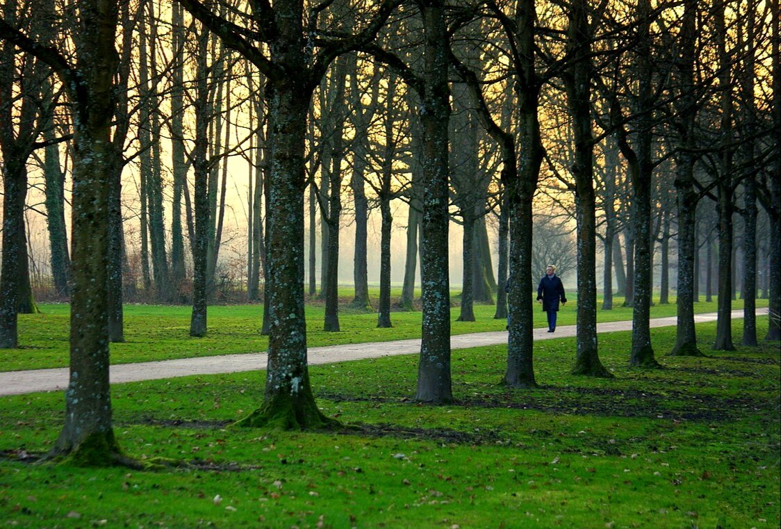
<svg viewBox="0 0 781 529"><path fill-rule="evenodd" d="M767 310L767 308L757 309L757 316L765 315ZM715 321L716 316L716 313L695 314L694 322ZM732 318L733 320L743 318L743 310L733 310ZM654 318L651 320L651 327L674 327L676 323L676 316ZM630 331L631 329L631 321L597 323L597 333ZM575 336L575 331L575 325L556 327L555 333L547 332L546 328L534 329L534 340L568 338ZM453 349L506 344L507 331L458 334L451 336L450 343ZM310 365L314 365L380 358L382 356L410 355L419 351L420 338L413 338L411 340L311 347L308 349L308 360ZM266 369L266 361L266 352L248 352L237 355L200 356L159 362L123 363L111 366L110 380L112 384L122 384L123 382L153 381L190 375L264 370ZM67 385L67 367L0 372L0 396L23 395L36 391L63 391Z"/></svg>

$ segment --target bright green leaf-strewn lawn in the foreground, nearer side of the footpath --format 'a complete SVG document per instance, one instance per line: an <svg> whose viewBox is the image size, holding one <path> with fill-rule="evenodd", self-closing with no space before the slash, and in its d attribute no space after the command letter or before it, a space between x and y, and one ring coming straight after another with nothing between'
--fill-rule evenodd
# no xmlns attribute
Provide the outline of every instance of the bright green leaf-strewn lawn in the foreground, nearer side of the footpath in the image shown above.
<svg viewBox="0 0 781 529"><path fill-rule="evenodd" d="M601 335L612 381L542 341L534 391L497 384L505 347L458 350L451 406L410 400L415 355L312 366L344 431L230 426L262 371L115 385L123 449L190 469L20 463L55 441L62 394L5 397L0 527L779 527L779 347L711 352L715 324L697 331L705 358L663 356L675 331L652 330L651 371L626 366L628 332Z"/></svg>

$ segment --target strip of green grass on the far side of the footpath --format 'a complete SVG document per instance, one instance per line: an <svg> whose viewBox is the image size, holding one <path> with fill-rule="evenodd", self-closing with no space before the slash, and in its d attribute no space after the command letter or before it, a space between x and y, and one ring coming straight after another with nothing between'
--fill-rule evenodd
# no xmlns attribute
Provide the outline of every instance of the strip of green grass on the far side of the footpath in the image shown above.
<svg viewBox="0 0 781 529"><path fill-rule="evenodd" d="M344 299L351 299L345 297ZM574 301L574 298L573 298ZM651 307L651 317L675 316L675 299L669 305ZM597 312L599 321L631 320L632 309L622 307L622 298L614 301L615 309ZM757 301L767 306L767 300ZM733 302L740 309L742 300ZM64 367L68 365L69 306L41 304L41 314L23 314L19 318L20 349L0 349L0 371ZM481 331L501 331L505 320L494 320L496 309L490 305L475 306L475 322L458 322L459 308L451 310L452 334ZM715 312L716 303L697 303L697 313ZM260 335L262 306L209 307L209 334L205 338L191 338L191 308L185 306L125 306L125 343L112 344L112 363L134 363L152 360L215 356L232 353L265 351L268 339ZM545 313L535 310L535 327L545 327ZM323 331L322 303L311 303L306 308L307 343L310 347L369 341L419 338L419 312L394 312L391 329L376 328L375 313L356 312L343 306L340 312L340 332ZM576 321L576 303L562 307L559 325L573 325Z"/></svg>

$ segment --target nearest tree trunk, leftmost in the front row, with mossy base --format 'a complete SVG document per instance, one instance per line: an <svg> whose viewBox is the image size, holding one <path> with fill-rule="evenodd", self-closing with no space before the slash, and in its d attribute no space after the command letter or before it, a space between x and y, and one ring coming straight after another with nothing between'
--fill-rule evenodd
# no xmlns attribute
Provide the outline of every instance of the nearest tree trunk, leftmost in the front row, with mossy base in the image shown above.
<svg viewBox="0 0 781 529"><path fill-rule="evenodd" d="M85 91L74 94L73 295L65 424L52 450L84 466L122 459L109 388L109 188L117 152L110 133L116 72L116 2L87 2L76 45ZM62 80L67 84L66 80Z"/></svg>

